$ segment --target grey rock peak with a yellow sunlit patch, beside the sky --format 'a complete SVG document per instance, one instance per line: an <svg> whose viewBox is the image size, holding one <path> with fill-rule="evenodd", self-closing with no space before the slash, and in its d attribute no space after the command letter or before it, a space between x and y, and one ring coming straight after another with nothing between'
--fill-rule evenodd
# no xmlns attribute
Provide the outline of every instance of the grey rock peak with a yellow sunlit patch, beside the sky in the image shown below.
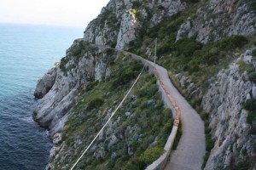
<svg viewBox="0 0 256 170"><path fill-rule="evenodd" d="M177 1L111 0L101 14L84 31L84 40L96 44L127 49L140 33L142 26L156 26L164 18L185 9Z"/></svg>

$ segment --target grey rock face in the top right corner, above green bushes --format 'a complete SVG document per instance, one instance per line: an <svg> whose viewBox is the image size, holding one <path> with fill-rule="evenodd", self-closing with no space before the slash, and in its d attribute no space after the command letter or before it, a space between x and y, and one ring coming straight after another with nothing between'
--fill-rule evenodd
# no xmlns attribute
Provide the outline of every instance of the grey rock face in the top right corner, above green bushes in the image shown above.
<svg viewBox="0 0 256 170"><path fill-rule="evenodd" d="M196 36L207 43L231 35L253 35L256 29L253 1L210 0L180 27L177 40Z"/></svg>

